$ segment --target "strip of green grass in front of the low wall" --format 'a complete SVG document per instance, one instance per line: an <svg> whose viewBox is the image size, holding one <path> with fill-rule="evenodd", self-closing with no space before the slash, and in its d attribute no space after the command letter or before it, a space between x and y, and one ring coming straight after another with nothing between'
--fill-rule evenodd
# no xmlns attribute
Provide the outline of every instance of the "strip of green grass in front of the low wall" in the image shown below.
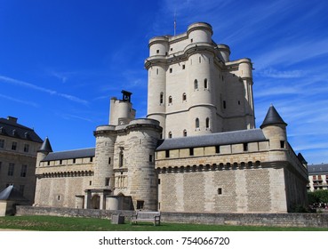
<svg viewBox="0 0 328 249"><path fill-rule="evenodd" d="M152 223L115 225L104 219L57 216L0 217L0 229L38 231L328 231L328 228L278 228L180 223L161 223L160 226L156 227Z"/></svg>

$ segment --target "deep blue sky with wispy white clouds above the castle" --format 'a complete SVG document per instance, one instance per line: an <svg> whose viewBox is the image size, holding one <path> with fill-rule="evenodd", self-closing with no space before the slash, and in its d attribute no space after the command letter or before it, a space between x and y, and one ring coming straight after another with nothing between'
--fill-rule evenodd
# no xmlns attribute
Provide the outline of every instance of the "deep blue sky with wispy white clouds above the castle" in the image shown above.
<svg viewBox="0 0 328 249"><path fill-rule="evenodd" d="M148 40L212 25L231 60L254 63L257 127L270 104L309 164L328 162L327 1L0 0L0 116L16 116L52 149L94 146L109 99L133 92L147 112Z"/></svg>

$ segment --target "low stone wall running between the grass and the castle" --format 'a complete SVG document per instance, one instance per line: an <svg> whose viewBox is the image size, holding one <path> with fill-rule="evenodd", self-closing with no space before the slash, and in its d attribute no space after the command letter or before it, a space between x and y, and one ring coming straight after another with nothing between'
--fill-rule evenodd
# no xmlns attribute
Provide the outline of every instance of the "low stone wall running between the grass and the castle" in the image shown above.
<svg viewBox="0 0 328 249"><path fill-rule="evenodd" d="M111 219L123 214L130 221L133 211L17 206L16 215L55 215ZM328 228L328 213L161 213L161 221L240 226Z"/></svg>

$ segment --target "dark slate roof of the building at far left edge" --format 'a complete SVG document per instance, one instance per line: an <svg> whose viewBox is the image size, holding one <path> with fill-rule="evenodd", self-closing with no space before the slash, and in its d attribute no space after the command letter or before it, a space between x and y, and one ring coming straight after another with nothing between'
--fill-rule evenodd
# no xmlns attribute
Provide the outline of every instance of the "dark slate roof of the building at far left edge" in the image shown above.
<svg viewBox="0 0 328 249"><path fill-rule="evenodd" d="M17 138L20 140L43 142L36 132L27 126L16 123L12 119L0 118L0 135Z"/></svg>

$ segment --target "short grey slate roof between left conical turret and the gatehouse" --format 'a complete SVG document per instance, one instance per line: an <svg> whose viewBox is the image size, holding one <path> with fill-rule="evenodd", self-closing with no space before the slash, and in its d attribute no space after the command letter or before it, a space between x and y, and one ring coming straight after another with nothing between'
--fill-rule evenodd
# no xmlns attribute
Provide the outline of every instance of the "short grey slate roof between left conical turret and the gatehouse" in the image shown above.
<svg viewBox="0 0 328 249"><path fill-rule="evenodd" d="M46 157L44 157L43 162L54 161L54 160L63 160L63 159L72 159L72 158L85 158L85 157L94 157L95 148L89 149L74 149L66 150L60 152L51 152Z"/></svg>

